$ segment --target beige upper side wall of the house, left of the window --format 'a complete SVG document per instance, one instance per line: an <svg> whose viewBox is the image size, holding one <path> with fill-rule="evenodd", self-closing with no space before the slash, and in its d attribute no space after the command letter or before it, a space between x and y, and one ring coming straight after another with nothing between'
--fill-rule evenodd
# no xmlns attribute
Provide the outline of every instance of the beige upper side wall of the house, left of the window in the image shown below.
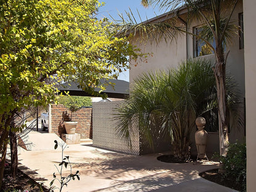
<svg viewBox="0 0 256 192"><path fill-rule="evenodd" d="M178 22L178 25L183 23ZM176 68L178 63L186 58L186 36L184 34L178 35L171 43L162 41L156 42L135 42L138 48L143 53L148 53L146 60L131 60L130 61L130 87L132 82L142 73L155 70L167 70L168 68Z"/></svg>

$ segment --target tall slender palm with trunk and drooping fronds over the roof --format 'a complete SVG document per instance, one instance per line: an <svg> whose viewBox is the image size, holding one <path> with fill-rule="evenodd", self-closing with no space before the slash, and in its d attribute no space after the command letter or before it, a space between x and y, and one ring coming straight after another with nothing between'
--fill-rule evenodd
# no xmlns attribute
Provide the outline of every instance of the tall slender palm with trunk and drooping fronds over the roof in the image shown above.
<svg viewBox="0 0 256 192"><path fill-rule="evenodd" d="M190 33L183 26L177 26L176 17L166 22L148 23L133 22L133 15L129 15L130 21L121 26L123 34L140 33L142 37L154 39L157 42L164 38L172 40L177 33L191 34L197 39L206 42L207 46L215 54L214 76L217 87L220 155L225 156L228 147L228 126L226 121L226 58L224 57L224 46L230 42L231 36L236 33L236 26L232 25L231 15L240 0L142 0L143 6L158 5L160 9L174 10L184 6L188 10L187 22L199 20L204 23L202 30L198 33ZM178 16L178 15L177 15ZM154 32L153 32L154 31ZM121 33L120 33L121 34ZM158 35L156 35L158 34ZM215 47L212 46L215 44ZM227 54L228 55L228 54Z"/></svg>

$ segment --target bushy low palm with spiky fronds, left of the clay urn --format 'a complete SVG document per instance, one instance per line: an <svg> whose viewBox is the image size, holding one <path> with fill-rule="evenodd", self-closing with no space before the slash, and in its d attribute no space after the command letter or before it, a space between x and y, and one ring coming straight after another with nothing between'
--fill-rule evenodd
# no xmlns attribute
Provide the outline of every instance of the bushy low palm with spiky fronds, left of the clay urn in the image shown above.
<svg viewBox="0 0 256 192"><path fill-rule="evenodd" d="M142 74L130 97L118 108L118 130L130 141L129 126L138 119L140 134L151 146L154 137L170 137L174 156L188 158L190 133L197 116L216 104L212 62L188 60L178 69ZM158 135L156 135L158 134Z"/></svg>

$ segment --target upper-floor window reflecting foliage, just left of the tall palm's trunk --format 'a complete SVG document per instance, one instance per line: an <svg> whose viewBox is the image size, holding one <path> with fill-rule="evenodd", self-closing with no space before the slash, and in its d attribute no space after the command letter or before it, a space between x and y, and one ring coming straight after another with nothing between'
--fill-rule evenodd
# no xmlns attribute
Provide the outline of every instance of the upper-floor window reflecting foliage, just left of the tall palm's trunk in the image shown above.
<svg viewBox="0 0 256 192"><path fill-rule="evenodd" d="M201 32L201 30L202 30L201 27L194 27L193 33L198 35ZM215 47L215 42L213 46ZM193 47L194 47L194 57L214 54L214 51L210 48L208 44L206 44L206 42L202 41L201 39L197 39L195 36L193 39Z"/></svg>

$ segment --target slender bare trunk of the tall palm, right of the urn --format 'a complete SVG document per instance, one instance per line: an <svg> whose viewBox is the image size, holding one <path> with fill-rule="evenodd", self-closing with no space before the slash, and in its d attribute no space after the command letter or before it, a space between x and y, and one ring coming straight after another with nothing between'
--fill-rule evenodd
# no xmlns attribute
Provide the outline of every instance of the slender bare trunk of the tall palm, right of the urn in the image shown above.
<svg viewBox="0 0 256 192"><path fill-rule="evenodd" d="M228 148L228 126L226 125L226 66L223 54L217 58L215 66L215 80L218 99L218 124L220 139L220 155L226 156Z"/></svg>

